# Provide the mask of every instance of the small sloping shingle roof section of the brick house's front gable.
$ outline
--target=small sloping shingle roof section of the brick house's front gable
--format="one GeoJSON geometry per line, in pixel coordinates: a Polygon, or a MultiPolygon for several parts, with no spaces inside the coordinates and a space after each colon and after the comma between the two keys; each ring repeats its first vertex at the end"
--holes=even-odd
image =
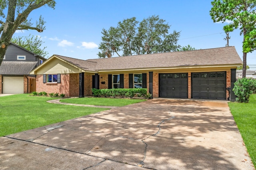
{"type": "Polygon", "coordinates": [[[80,60],[80,59],[74,59],[74,58],[70,58],[70,57],[64,57],[61,55],[55,55],[65,61],[68,61],[71,64],[74,64],[80,68],[82,68],[83,70],[90,70],[90,71],[95,71],[95,67],[96,67],[96,62],[94,61],[86,61],[86,60],[80,60]]]}

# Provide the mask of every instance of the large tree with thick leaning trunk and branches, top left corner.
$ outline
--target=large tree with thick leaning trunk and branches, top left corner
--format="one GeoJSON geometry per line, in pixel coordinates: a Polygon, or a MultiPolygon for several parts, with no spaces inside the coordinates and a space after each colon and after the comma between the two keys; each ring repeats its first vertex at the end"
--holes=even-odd
{"type": "Polygon", "coordinates": [[[33,26],[28,15],[42,6],[55,7],[55,0],[0,0],[0,65],[12,35],[18,29],[34,29],[42,32],[45,27],[42,16],[33,26]]]}

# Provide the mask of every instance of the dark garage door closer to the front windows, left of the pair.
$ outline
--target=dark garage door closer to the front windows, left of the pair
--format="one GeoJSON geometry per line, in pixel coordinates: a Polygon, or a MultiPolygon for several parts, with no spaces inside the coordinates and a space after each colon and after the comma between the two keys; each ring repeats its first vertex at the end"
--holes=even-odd
{"type": "Polygon", "coordinates": [[[188,73],[160,74],[159,79],[160,97],[188,98],[188,73]]]}

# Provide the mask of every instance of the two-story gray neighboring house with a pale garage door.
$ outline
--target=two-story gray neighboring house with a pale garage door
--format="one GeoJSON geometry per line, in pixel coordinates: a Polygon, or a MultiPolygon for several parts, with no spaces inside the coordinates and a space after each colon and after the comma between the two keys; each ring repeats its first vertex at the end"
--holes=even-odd
{"type": "Polygon", "coordinates": [[[36,76],[29,72],[44,61],[44,57],[10,43],[0,66],[0,93],[36,91],[36,76]]]}

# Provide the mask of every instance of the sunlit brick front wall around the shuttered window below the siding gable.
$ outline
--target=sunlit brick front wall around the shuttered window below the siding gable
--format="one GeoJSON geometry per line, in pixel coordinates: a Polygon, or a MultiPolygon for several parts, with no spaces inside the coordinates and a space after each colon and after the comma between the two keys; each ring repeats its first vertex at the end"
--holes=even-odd
{"type": "Polygon", "coordinates": [[[61,74],[60,83],[43,83],[43,75],[36,75],[36,92],[47,92],[66,94],[66,97],[70,97],[69,94],[69,74],[61,74]]]}

